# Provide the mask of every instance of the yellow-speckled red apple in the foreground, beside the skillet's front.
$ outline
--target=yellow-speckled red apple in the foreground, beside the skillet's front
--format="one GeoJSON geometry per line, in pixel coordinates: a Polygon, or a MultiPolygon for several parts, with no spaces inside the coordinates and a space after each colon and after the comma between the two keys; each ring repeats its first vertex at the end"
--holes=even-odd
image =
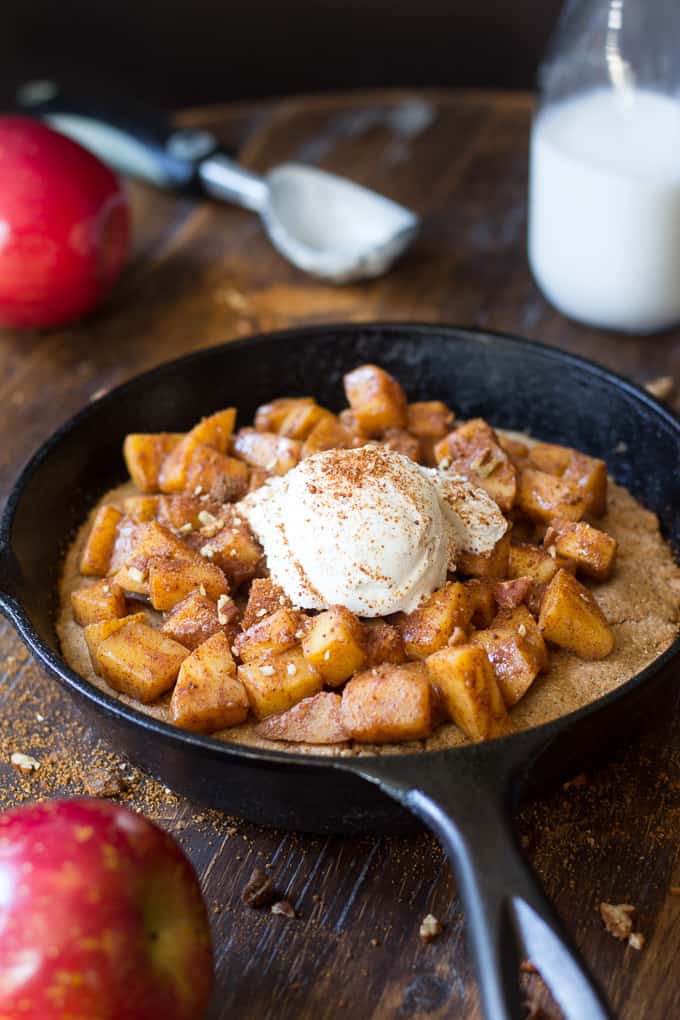
{"type": "Polygon", "coordinates": [[[0,1017],[199,1020],[212,980],[199,883],[167,833],[104,801],[0,815],[0,1017]]]}

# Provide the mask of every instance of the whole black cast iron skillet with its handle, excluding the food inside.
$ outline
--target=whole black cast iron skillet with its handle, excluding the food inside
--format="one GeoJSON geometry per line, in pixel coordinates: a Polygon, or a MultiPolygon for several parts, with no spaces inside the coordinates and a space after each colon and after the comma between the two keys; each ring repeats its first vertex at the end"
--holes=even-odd
{"type": "Polygon", "coordinates": [[[484,745],[328,760],[263,752],[176,729],[126,708],[63,661],[54,628],[64,544],[123,479],[128,431],[180,430],[228,404],[251,419],[277,395],[344,403],[343,373],[365,361],[412,400],[567,443],[610,465],[680,550],[680,421],[596,365],[538,344],[440,325],[322,325],[230,343],[161,365],[59,429],[16,482],[0,523],[0,607],[48,672],[120,751],[194,800],[269,825],[403,832],[413,815],[443,843],[461,886],[487,1020],[520,1020],[518,961],[529,957],[568,1020],[610,1016],[518,849],[520,789],[583,768],[676,666],[680,641],[623,687],[569,716],[484,745]],[[368,780],[368,781],[366,781],[368,780]]]}

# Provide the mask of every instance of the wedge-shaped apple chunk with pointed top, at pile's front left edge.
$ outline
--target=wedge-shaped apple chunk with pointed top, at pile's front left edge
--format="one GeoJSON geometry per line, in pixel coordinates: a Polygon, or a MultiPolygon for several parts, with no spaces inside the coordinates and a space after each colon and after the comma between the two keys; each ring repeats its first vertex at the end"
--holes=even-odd
{"type": "Polygon", "coordinates": [[[213,733],[238,726],[248,716],[246,688],[223,633],[204,642],[179,667],[170,699],[170,717],[177,726],[213,733]]]}

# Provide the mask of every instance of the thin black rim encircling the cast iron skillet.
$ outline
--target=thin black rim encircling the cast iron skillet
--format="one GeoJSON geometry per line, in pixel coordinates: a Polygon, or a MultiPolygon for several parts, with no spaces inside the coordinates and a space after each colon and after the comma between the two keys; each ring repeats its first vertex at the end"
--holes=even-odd
{"type": "MultiPolygon", "coordinates": [[[[455,340],[457,337],[464,336],[481,344],[507,344],[515,348],[524,348],[530,352],[532,357],[543,358],[548,362],[557,362],[558,364],[564,364],[565,362],[569,363],[578,370],[599,378],[606,385],[612,386],[614,389],[624,391],[629,397],[632,397],[634,401],[641,404],[647,414],[651,414],[658,419],[661,419],[667,428],[670,428],[672,432],[676,434],[678,442],[680,443],[680,416],[677,415],[672,408],[658,400],[642,387],[619,374],[618,372],[591,361],[588,358],[583,358],[570,351],[564,351],[560,348],[551,347],[546,344],[542,344],[540,341],[529,340],[526,337],[520,337],[513,333],[485,329],[478,326],[458,326],[446,322],[411,322],[408,320],[323,322],[302,327],[289,327],[285,329],[271,330],[257,334],[252,337],[241,338],[239,340],[225,341],[221,344],[214,344],[199,351],[193,351],[190,354],[173,358],[169,361],[161,361],[154,367],[147,369],[144,372],[140,372],[132,378],[126,379],[124,382],[121,382],[119,386],[114,387],[112,390],[109,390],[108,393],[104,394],[101,398],[99,398],[99,400],[89,402],[85,407],[81,408],[80,411],[76,411],[75,414],[71,415],[64,422],[62,422],[62,424],[59,425],[50,436],[48,436],[48,438],[29,458],[10,490],[0,517],[0,565],[2,564],[3,558],[11,555],[12,525],[16,516],[18,503],[21,500],[27,484],[30,482],[31,478],[43,462],[49,458],[52,451],[59,446],[62,439],[79,427],[84,421],[87,421],[91,415],[95,414],[97,410],[102,407],[102,405],[111,403],[115,404],[115,401],[126,390],[137,387],[140,384],[150,382],[155,375],[167,372],[168,370],[176,371],[184,365],[214,356],[216,351],[240,350],[247,345],[252,346],[264,344],[271,342],[272,340],[284,342],[286,339],[293,337],[300,338],[302,336],[313,339],[316,336],[326,335],[330,330],[336,335],[343,333],[356,335],[357,333],[362,332],[378,332],[382,334],[398,332],[403,334],[405,330],[410,330],[416,335],[420,334],[424,337],[436,334],[439,337],[443,336],[447,340],[455,340]]],[[[4,609],[8,618],[16,627],[22,641],[27,644],[31,652],[36,655],[38,661],[47,668],[47,671],[56,676],[70,692],[75,693],[86,701],[90,702],[94,708],[102,712],[104,715],[115,716],[119,722],[129,724],[132,726],[141,726],[142,729],[146,729],[147,732],[152,733],[154,736],[158,736],[172,743],[177,741],[180,744],[192,748],[194,751],[207,751],[213,756],[218,755],[227,761],[230,758],[240,758],[252,764],[287,765],[293,768],[309,768],[309,766],[315,766],[317,768],[339,768],[347,771],[361,772],[362,764],[365,768],[367,762],[375,763],[391,758],[396,758],[403,762],[416,761],[423,757],[425,757],[427,761],[442,760],[444,758],[453,760],[454,756],[459,758],[460,756],[465,756],[467,754],[468,757],[471,757],[472,754],[479,754],[480,751],[490,753],[498,751],[499,755],[503,755],[505,750],[510,749],[511,747],[519,749],[522,744],[526,746],[527,751],[529,751],[529,749],[542,749],[561,732],[577,725],[580,721],[588,717],[599,715],[600,713],[606,712],[613,705],[622,704],[629,698],[633,698],[640,687],[657,676],[671,660],[680,657],[679,631],[675,641],[666,649],[665,652],[662,653],[662,655],[653,659],[648,666],[645,666],[645,668],[640,672],[633,674],[633,676],[622,683],[619,687],[611,691],[603,698],[589,702],[587,705],[576,709],[574,712],[559,716],[557,719],[542,723],[539,726],[519,730],[516,733],[495,738],[481,745],[464,744],[459,747],[436,751],[414,751],[407,753],[395,752],[393,754],[387,753],[380,755],[323,756],[317,754],[300,754],[290,751],[273,751],[243,744],[233,744],[228,741],[217,740],[216,737],[209,736],[207,734],[185,730],[178,726],[173,726],[170,723],[163,722],[160,719],[147,715],[132,706],[125,705],[123,702],[113,697],[113,695],[109,695],[106,692],[101,691],[95,684],[86,680],[85,677],[82,677],[79,673],[76,673],[75,670],[68,665],[65,659],[63,659],[60,655],[57,655],[54,650],[46,642],[44,642],[42,638],[40,638],[29,618],[20,596],[13,594],[11,591],[2,590],[1,583],[0,608],[4,609]]]]}

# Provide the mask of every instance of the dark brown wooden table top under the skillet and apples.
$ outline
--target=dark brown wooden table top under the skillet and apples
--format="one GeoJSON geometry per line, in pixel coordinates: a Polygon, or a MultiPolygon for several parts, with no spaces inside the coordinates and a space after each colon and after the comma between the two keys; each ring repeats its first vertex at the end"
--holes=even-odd
{"type": "MultiPolygon", "coordinates": [[[[422,236],[385,278],[332,289],[304,277],[257,219],[216,204],[132,187],[135,258],[89,321],[0,342],[0,487],[49,432],[96,392],[187,351],[278,326],[332,319],[483,325],[537,338],[645,380],[680,378],[680,333],[632,340],[577,326],[543,301],[525,255],[531,99],[481,93],[355,94],[185,113],[264,169],[294,158],[347,173],[415,208],[422,236]]],[[[323,366],[318,366],[322,371],[323,366]]],[[[5,803],[83,793],[88,763],[110,749],[79,724],[69,699],[2,624],[3,747],[42,761],[31,779],[0,764],[5,803]]],[[[677,698],[675,699],[677,701],[677,698]]],[[[522,809],[527,853],[585,958],[626,1020],[680,1015],[680,716],[674,699],[642,720],[585,784],[522,809]],[[615,941],[600,900],[637,907],[646,937],[615,941]]],[[[224,819],[145,777],[126,795],[182,840],[213,911],[213,1018],[479,1016],[455,884],[436,844],[312,838],[224,819]],[[240,894],[271,864],[292,921],[240,894]],[[430,946],[428,912],[446,924],[430,946]]],[[[528,994],[548,1003],[536,977],[528,994]]],[[[547,1006],[550,1015],[555,1008],[547,1006]]],[[[587,1020],[587,1018],[584,1018],[587,1020]]]]}

